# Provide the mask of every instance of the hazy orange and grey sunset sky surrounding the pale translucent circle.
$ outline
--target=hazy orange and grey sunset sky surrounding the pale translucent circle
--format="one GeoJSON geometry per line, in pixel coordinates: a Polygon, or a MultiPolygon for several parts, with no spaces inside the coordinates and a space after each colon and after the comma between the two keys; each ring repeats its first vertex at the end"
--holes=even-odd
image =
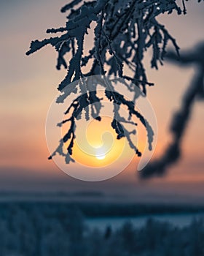
{"type": "MultiPolygon", "coordinates": [[[[136,157],[118,176],[96,183],[77,181],[47,160],[50,154],[45,137],[47,111],[66,70],[55,69],[56,53],[50,47],[32,56],[25,53],[31,40],[46,37],[47,28],[63,26],[66,15],[60,13],[60,7],[66,3],[66,0],[0,1],[0,191],[87,189],[129,193],[140,200],[167,195],[171,200],[180,196],[181,200],[188,197],[201,202],[204,199],[204,102],[195,103],[182,143],[182,159],[170,167],[164,178],[139,181],[136,157]]],[[[193,49],[204,39],[203,13],[203,2],[189,1],[187,15],[163,15],[160,20],[176,37],[181,50],[193,49]]],[[[195,67],[175,67],[166,62],[158,71],[150,68],[146,71],[149,80],[155,83],[148,90],[158,126],[154,159],[170,141],[171,115],[178,108],[195,67]]]]}

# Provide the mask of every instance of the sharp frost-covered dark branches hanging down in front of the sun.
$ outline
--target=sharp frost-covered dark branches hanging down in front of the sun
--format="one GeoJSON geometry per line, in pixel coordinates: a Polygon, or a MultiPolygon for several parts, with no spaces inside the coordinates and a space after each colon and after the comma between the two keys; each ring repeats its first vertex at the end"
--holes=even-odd
{"type": "MultiPolygon", "coordinates": [[[[200,1],[198,0],[198,2],[200,1]]],[[[179,48],[176,40],[168,33],[165,26],[157,21],[158,15],[170,14],[173,10],[178,15],[182,12],[186,14],[185,1],[182,1],[181,7],[177,4],[178,2],[180,1],[98,0],[85,2],[74,0],[61,9],[61,12],[68,12],[66,26],[59,29],[47,29],[47,33],[61,33],[60,36],[31,42],[31,48],[26,53],[27,55],[50,44],[58,52],[57,69],[60,67],[68,69],[66,78],[58,86],[61,95],[57,102],[63,102],[69,94],[76,93],[77,89],[82,94],[76,97],[66,110],[66,114],[70,116],[59,124],[71,122],[70,128],[60,140],[58,148],[50,156],[50,159],[58,153],[65,157],[67,163],[74,162],[71,154],[75,138],[75,121],[77,118],[81,118],[82,110],[85,111],[87,120],[90,115],[98,121],[101,120],[102,99],[97,94],[98,84],[105,87],[106,99],[113,105],[117,105],[117,108],[114,108],[111,122],[111,126],[117,133],[117,139],[125,137],[125,123],[136,125],[131,121],[131,118],[136,116],[146,127],[151,150],[154,132],[144,116],[135,110],[138,98],[138,91],[135,88],[141,89],[143,94],[146,94],[146,86],[153,85],[146,77],[144,67],[144,52],[146,50],[152,48],[151,67],[156,69],[158,69],[158,63],[162,64],[169,41],[173,43],[178,54],[179,48]],[[88,29],[93,27],[93,45],[85,45],[85,37],[89,34],[88,29]],[[88,47],[90,49],[87,49],[88,47]],[[68,61],[66,61],[66,56],[70,57],[68,61]],[[89,72],[85,72],[87,65],[90,65],[89,72]],[[131,75],[125,73],[127,70],[125,67],[129,69],[128,74],[131,73],[131,75]],[[103,81],[95,81],[93,85],[89,78],[93,75],[103,75],[103,81]],[[119,94],[116,91],[116,81],[106,80],[106,75],[118,76],[125,80],[124,86],[127,86],[130,91],[135,91],[133,101],[129,101],[119,94]],[[76,80],[80,80],[79,88],[74,88],[72,91],[66,90],[68,85],[76,80]],[[130,116],[128,120],[119,116],[119,108],[122,105],[127,107],[130,116]],[[67,151],[64,152],[63,146],[66,142],[69,144],[67,151]]],[[[130,139],[128,142],[136,154],[141,156],[135,143],[130,139]]]]}

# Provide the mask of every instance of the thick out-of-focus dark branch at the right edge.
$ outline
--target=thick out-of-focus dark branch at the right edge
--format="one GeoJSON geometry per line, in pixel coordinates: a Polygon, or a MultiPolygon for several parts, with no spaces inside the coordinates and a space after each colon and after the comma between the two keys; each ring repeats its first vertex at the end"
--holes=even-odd
{"type": "Polygon", "coordinates": [[[204,42],[196,45],[196,50],[181,53],[180,57],[172,51],[166,54],[168,61],[173,61],[181,66],[195,65],[196,73],[189,88],[184,92],[180,109],[174,114],[170,124],[170,132],[173,140],[166,148],[160,159],[150,162],[141,172],[141,177],[147,178],[154,175],[162,175],[169,165],[176,162],[181,155],[181,140],[184,137],[185,129],[192,113],[196,99],[204,99],[204,42]]]}

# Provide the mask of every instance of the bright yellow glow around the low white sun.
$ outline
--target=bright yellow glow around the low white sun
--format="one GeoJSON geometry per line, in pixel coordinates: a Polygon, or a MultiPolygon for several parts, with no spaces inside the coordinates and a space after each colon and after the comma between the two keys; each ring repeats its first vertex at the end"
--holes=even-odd
{"type": "MultiPolygon", "coordinates": [[[[80,127],[76,129],[80,129],[80,127]]],[[[86,138],[78,143],[76,135],[72,154],[76,162],[82,165],[90,167],[109,165],[117,160],[125,148],[125,138],[117,140],[117,134],[111,127],[111,117],[109,116],[102,116],[101,121],[93,119],[84,132],[86,138]]]]}

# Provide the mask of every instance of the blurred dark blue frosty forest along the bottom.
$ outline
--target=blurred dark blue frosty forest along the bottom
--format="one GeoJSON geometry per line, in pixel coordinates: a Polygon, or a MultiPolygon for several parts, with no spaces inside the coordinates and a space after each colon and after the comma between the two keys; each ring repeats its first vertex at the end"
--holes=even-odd
{"type": "Polygon", "coordinates": [[[147,219],[105,231],[85,225],[82,212],[66,204],[1,203],[1,256],[204,255],[204,222],[187,227],[147,219]]]}

